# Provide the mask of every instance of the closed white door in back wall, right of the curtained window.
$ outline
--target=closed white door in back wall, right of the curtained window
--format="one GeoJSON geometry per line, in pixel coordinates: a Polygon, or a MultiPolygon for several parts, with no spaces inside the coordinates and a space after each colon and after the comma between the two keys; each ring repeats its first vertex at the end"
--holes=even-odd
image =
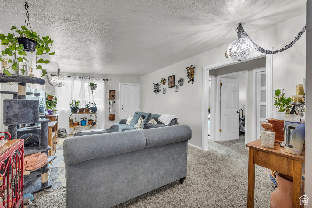
{"type": "Polygon", "coordinates": [[[140,110],[140,86],[120,84],[120,119],[128,119],[140,110]]]}

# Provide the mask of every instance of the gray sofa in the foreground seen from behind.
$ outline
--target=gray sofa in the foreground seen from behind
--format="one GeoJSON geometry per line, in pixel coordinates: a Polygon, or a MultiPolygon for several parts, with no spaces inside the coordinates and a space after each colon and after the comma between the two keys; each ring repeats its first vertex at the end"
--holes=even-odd
{"type": "Polygon", "coordinates": [[[82,135],[64,141],[67,208],[106,208],[187,175],[185,125],[82,135]]]}

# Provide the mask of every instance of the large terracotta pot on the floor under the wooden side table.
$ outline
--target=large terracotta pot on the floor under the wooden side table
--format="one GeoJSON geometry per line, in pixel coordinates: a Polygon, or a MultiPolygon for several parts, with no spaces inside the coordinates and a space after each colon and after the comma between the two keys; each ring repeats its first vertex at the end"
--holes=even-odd
{"type": "MultiPolygon", "coordinates": [[[[293,177],[276,172],[276,181],[277,188],[271,193],[271,208],[291,208],[293,177]]],[[[300,196],[304,194],[304,190],[305,181],[302,180],[300,196]]]]}

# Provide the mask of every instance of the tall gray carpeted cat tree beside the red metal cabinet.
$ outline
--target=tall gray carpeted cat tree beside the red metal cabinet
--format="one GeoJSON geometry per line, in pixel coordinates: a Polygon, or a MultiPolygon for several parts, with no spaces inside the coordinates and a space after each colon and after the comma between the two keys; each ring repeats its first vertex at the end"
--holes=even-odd
{"type": "MultiPolygon", "coordinates": [[[[48,145],[48,122],[49,119],[39,119],[39,100],[26,100],[26,83],[44,85],[45,80],[37,77],[27,77],[22,75],[8,76],[0,74],[0,83],[17,82],[18,92],[0,91],[1,94],[13,94],[13,99],[3,100],[3,124],[8,127],[7,131],[11,134],[11,139],[22,139],[23,135],[37,135],[38,143],[25,146],[24,155],[43,152],[48,155],[51,149],[48,145]],[[40,123],[40,129],[36,127],[20,128],[21,124],[40,123]]],[[[26,139],[28,137],[24,137],[26,139]]],[[[30,140],[31,141],[31,140],[30,140]]],[[[36,141],[36,139],[35,139],[36,141]]],[[[25,193],[37,193],[52,185],[48,180],[48,164],[56,156],[48,156],[45,166],[33,170],[24,177],[25,193]],[[40,177],[41,176],[41,180],[40,177]]],[[[25,169],[26,167],[24,167],[25,169]]]]}

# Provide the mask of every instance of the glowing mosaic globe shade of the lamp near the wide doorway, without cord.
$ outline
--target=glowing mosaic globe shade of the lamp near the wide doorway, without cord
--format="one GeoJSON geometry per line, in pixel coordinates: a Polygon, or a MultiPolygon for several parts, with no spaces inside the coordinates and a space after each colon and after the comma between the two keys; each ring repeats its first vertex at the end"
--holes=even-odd
{"type": "Polygon", "coordinates": [[[227,48],[227,57],[232,61],[241,61],[245,60],[251,52],[251,41],[247,38],[237,38],[227,48]]]}

